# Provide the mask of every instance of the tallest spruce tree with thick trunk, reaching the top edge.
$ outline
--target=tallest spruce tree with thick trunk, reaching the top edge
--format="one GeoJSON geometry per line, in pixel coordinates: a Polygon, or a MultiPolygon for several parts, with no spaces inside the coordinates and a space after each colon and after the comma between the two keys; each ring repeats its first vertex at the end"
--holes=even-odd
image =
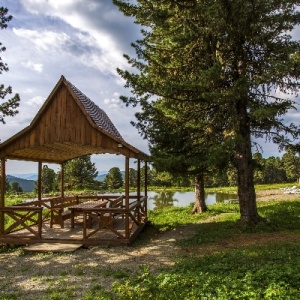
{"type": "MultiPolygon", "coordinates": [[[[300,22],[298,2],[113,2],[135,18],[143,35],[132,44],[137,58],[125,55],[135,70],[118,70],[133,93],[123,101],[141,105],[150,117],[157,97],[172,101],[178,117],[182,107],[195,103],[191,122],[205,117],[208,138],[215,140],[220,132],[211,128],[218,128],[233,145],[241,221],[259,222],[252,137],[283,147],[299,134],[282,119],[299,89],[300,45],[290,36],[300,22]]],[[[147,120],[138,124],[145,128],[147,120]]]]}

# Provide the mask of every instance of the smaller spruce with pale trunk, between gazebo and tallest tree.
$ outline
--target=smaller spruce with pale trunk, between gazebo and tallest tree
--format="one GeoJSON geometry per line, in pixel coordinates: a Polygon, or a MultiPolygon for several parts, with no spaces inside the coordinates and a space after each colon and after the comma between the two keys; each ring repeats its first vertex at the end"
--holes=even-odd
{"type": "Polygon", "coordinates": [[[185,103],[180,111],[173,101],[159,99],[150,107],[136,114],[136,127],[150,144],[153,166],[157,171],[168,171],[177,177],[194,179],[195,203],[192,213],[207,210],[204,194],[205,177],[216,166],[225,167],[230,153],[230,144],[220,134],[222,130],[207,121],[207,115],[198,111],[197,103],[185,103]],[[209,126],[208,126],[209,125],[209,126]],[[207,132],[215,132],[212,137],[207,132]],[[218,134],[219,133],[219,134],[218,134]],[[220,155],[222,154],[222,155],[220,155]]]}

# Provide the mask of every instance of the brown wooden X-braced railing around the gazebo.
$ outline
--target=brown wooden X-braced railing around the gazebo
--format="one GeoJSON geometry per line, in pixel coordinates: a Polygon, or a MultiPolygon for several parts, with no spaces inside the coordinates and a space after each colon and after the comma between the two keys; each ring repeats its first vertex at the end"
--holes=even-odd
{"type": "MultiPolygon", "coordinates": [[[[68,198],[68,196],[65,198],[68,198]]],[[[110,203],[117,202],[119,198],[124,198],[124,196],[78,195],[79,202],[107,200],[110,203]]],[[[51,202],[61,199],[61,197],[52,197],[0,208],[0,217],[5,220],[6,224],[4,228],[0,229],[0,237],[4,238],[10,234],[10,238],[16,240],[19,237],[42,239],[42,224],[51,218],[51,202]]],[[[87,208],[83,210],[83,240],[96,239],[96,233],[102,229],[114,233],[118,238],[129,239],[134,226],[139,227],[146,220],[147,197],[144,196],[139,199],[137,196],[130,196],[127,207],[123,203],[120,207],[87,208]],[[123,221],[118,222],[118,225],[122,223],[122,227],[116,226],[116,219],[123,221]],[[97,222],[96,229],[89,226],[90,222],[97,222]]]]}

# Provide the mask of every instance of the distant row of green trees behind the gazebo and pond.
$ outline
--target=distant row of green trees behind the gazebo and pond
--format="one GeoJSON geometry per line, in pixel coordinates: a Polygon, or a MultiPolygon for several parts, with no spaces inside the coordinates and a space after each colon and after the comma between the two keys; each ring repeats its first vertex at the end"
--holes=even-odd
{"type": "MultiPolygon", "coordinates": [[[[261,153],[253,155],[255,170],[255,184],[273,183],[295,183],[300,177],[300,158],[296,151],[288,149],[282,157],[263,158],[261,153]]],[[[91,162],[90,156],[74,159],[65,165],[65,190],[99,190],[114,191],[124,187],[124,177],[118,167],[109,170],[103,181],[96,180],[98,171],[95,164],[91,162]]],[[[168,172],[157,172],[155,168],[148,167],[148,186],[157,187],[193,187],[193,178],[181,174],[174,176],[168,172]]],[[[137,185],[137,170],[129,169],[130,187],[137,185]]],[[[60,171],[54,170],[44,165],[42,171],[42,191],[43,193],[57,192],[60,190],[60,171]]],[[[141,182],[145,182],[145,170],[141,168],[141,182]]],[[[206,187],[236,186],[237,174],[234,167],[227,167],[220,170],[212,170],[206,178],[206,187]]],[[[9,193],[22,192],[18,183],[10,183],[7,180],[6,190],[9,193]]]]}

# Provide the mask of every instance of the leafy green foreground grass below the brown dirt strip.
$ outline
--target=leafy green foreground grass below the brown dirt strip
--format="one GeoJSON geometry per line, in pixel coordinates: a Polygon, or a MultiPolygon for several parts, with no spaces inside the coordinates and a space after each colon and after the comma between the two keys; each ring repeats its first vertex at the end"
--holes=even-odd
{"type": "Polygon", "coordinates": [[[299,243],[191,256],[114,284],[115,299],[299,299],[299,243]]]}

